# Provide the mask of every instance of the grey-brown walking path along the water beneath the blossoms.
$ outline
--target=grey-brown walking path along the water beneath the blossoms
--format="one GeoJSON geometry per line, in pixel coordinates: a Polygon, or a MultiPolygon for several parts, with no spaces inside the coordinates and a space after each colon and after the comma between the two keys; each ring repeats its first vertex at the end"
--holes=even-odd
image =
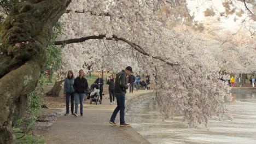
{"type": "MultiPolygon", "coordinates": [[[[141,94],[149,94],[141,90],[133,94],[126,94],[126,99],[141,94]]],[[[152,93],[150,93],[152,94],[152,93]]],[[[108,97],[108,95],[105,95],[108,97]]],[[[110,126],[109,119],[116,105],[109,105],[108,99],[103,99],[102,105],[89,104],[85,101],[84,116],[61,116],[48,131],[37,131],[46,143],[92,143],[92,144],[136,144],[149,143],[131,127],[123,128],[110,126]]],[[[78,112],[80,113],[80,112],[78,112]]],[[[119,115],[116,118],[119,124],[119,115]]]]}

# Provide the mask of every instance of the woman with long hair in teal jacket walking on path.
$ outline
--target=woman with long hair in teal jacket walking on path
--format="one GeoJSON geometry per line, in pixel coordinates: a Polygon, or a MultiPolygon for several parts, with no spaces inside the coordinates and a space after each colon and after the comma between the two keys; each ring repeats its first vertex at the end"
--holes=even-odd
{"type": "Polygon", "coordinates": [[[69,99],[71,98],[71,113],[74,114],[74,75],[71,70],[68,71],[67,77],[64,82],[64,97],[66,97],[66,114],[69,115],[69,99]]]}

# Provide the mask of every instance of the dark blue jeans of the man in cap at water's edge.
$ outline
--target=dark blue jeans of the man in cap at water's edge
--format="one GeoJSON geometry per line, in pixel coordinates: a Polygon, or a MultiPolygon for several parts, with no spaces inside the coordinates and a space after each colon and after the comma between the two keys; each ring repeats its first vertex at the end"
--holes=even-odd
{"type": "Polygon", "coordinates": [[[120,125],[125,123],[125,94],[115,94],[115,98],[117,98],[117,107],[115,108],[110,122],[115,122],[115,117],[117,117],[118,111],[120,110],[120,125]]]}

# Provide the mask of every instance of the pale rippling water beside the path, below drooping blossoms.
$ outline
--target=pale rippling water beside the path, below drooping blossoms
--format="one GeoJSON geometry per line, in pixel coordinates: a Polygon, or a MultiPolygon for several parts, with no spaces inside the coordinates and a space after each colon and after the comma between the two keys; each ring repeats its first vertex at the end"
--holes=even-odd
{"type": "Polygon", "coordinates": [[[127,113],[132,127],[150,143],[245,143],[256,144],[256,89],[232,89],[233,102],[228,104],[234,119],[211,119],[204,125],[188,128],[182,116],[163,120],[156,101],[133,106],[127,113]]]}

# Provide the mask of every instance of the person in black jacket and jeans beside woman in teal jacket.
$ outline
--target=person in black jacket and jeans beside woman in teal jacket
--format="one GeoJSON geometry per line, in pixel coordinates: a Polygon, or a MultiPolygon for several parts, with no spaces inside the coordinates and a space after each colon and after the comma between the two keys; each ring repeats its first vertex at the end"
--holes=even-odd
{"type": "Polygon", "coordinates": [[[74,116],[77,116],[78,111],[78,102],[80,101],[80,116],[83,116],[83,108],[84,108],[84,97],[85,91],[88,89],[88,82],[84,77],[84,71],[79,70],[79,76],[74,80],[74,97],[75,97],[75,113],[74,116]]]}

